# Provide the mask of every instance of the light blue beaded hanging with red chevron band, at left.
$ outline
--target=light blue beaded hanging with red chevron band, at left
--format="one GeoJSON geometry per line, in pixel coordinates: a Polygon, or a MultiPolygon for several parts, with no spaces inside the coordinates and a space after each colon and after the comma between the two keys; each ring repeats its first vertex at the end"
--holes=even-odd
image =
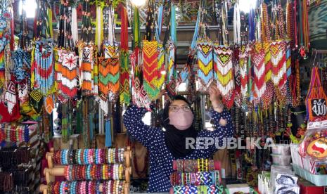
{"type": "Polygon", "coordinates": [[[36,41],[32,51],[32,88],[40,89],[47,95],[53,92],[54,67],[53,67],[53,41],[36,41]]]}

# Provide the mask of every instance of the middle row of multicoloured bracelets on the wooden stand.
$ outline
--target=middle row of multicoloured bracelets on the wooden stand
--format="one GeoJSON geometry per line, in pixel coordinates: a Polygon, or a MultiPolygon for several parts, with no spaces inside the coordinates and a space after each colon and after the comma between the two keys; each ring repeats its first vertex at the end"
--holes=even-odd
{"type": "Polygon", "coordinates": [[[68,181],[84,180],[124,180],[123,164],[89,164],[65,166],[65,178],[68,181]]]}

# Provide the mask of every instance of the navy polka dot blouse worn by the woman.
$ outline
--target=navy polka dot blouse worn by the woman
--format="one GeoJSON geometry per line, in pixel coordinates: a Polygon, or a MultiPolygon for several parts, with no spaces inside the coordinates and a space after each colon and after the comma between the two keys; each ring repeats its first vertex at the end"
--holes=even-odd
{"type": "MultiPolygon", "coordinates": [[[[142,117],[146,112],[147,110],[144,108],[137,108],[135,105],[131,105],[124,114],[123,122],[129,135],[136,138],[149,151],[150,178],[148,192],[169,192],[169,189],[172,187],[169,180],[169,176],[173,172],[172,161],[177,158],[172,156],[167,145],[165,145],[165,131],[162,131],[159,127],[150,127],[142,122],[142,117]]],[[[227,110],[224,110],[222,113],[212,110],[211,113],[214,131],[204,129],[198,133],[198,137],[219,138],[219,145],[222,145],[223,138],[233,136],[231,115],[227,110]],[[226,119],[227,124],[225,126],[219,125],[220,118],[226,119]]],[[[184,159],[208,158],[216,151],[216,146],[210,145],[207,149],[194,150],[184,159]]]]}

